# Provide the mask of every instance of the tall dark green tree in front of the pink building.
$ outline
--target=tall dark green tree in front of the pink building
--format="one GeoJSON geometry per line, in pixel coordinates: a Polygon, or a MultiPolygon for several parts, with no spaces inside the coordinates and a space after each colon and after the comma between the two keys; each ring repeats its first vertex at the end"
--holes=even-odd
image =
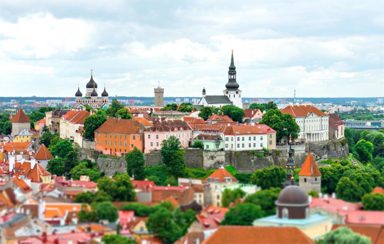
{"type": "Polygon", "coordinates": [[[172,172],[172,175],[180,177],[186,174],[187,165],[184,158],[183,146],[178,138],[170,136],[163,140],[160,153],[163,163],[172,172]]]}

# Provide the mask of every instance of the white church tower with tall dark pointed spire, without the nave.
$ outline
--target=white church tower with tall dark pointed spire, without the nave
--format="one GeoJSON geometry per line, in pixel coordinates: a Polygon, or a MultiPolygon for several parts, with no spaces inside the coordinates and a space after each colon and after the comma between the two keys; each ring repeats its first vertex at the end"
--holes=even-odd
{"type": "Polygon", "coordinates": [[[229,98],[232,104],[236,107],[243,108],[241,91],[239,90],[239,84],[236,82],[236,67],[233,62],[233,50],[231,57],[231,64],[228,70],[228,82],[225,84],[224,95],[229,98]]]}

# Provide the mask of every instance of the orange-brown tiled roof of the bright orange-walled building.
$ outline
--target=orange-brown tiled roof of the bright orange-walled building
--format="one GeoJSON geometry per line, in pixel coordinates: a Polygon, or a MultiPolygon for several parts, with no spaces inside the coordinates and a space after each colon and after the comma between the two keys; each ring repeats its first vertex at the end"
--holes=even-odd
{"type": "Polygon", "coordinates": [[[108,119],[95,131],[101,133],[139,134],[140,123],[133,120],[108,119]]]}

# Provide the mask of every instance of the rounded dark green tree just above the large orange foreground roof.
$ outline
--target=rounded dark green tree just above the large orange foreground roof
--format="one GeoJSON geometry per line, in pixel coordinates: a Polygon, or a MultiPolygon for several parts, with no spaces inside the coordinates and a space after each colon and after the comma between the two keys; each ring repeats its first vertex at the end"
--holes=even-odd
{"type": "Polygon", "coordinates": [[[220,225],[251,226],[254,220],[262,218],[265,215],[259,205],[252,203],[238,204],[236,207],[229,209],[229,212],[225,214],[224,220],[220,225]]]}

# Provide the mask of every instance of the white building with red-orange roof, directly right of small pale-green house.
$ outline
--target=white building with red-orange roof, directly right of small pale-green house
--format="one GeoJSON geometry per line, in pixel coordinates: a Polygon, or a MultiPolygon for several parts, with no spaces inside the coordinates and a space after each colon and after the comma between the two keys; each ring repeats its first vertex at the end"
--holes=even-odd
{"type": "Polygon", "coordinates": [[[224,130],[224,150],[262,150],[268,147],[268,135],[257,126],[226,126],[224,130]]]}

